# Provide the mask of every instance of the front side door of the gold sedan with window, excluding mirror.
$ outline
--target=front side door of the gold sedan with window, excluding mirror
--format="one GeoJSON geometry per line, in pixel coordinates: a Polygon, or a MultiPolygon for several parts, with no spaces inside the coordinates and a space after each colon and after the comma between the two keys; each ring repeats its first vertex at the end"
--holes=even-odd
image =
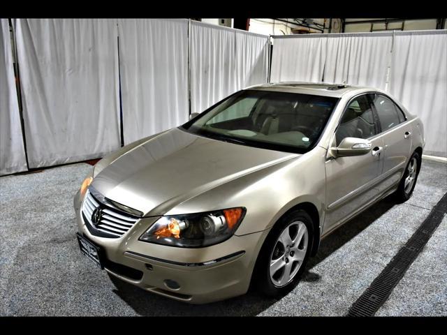
{"type": "Polygon", "coordinates": [[[326,160],[326,216],[323,234],[344,223],[377,195],[376,181],[383,168],[383,138],[366,94],[348,103],[335,131],[334,145],[345,137],[360,137],[372,142],[373,150],[362,156],[326,160]]]}

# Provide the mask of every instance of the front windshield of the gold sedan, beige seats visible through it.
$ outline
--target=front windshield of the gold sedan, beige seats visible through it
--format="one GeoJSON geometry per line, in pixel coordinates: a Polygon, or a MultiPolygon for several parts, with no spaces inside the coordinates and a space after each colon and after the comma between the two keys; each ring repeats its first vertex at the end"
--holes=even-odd
{"type": "Polygon", "coordinates": [[[337,98],[240,91],[182,127],[217,140],[304,153],[314,147],[337,98]]]}

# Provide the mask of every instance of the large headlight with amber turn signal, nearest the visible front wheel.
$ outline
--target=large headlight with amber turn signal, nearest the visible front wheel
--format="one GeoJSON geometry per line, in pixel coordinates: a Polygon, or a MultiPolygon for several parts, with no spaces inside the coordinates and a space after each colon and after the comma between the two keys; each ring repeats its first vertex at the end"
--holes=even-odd
{"type": "Polygon", "coordinates": [[[182,248],[212,246],[230,238],[244,218],[243,207],[208,213],[162,216],[140,241],[182,248]]]}

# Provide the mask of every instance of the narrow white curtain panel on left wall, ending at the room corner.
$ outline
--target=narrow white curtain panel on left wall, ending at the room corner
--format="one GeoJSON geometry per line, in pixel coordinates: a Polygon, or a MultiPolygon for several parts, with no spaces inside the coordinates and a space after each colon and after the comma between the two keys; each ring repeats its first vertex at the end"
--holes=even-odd
{"type": "Polygon", "coordinates": [[[235,31],[236,90],[263,84],[268,78],[268,36],[235,31]]]}

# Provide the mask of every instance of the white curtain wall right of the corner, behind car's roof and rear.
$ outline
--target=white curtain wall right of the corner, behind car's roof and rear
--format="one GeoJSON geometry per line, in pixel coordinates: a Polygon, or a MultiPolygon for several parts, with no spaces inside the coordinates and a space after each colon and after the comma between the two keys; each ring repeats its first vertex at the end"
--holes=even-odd
{"type": "Polygon", "coordinates": [[[270,77],[388,91],[423,120],[425,154],[445,157],[446,68],[446,30],[274,36],[270,77]]]}

